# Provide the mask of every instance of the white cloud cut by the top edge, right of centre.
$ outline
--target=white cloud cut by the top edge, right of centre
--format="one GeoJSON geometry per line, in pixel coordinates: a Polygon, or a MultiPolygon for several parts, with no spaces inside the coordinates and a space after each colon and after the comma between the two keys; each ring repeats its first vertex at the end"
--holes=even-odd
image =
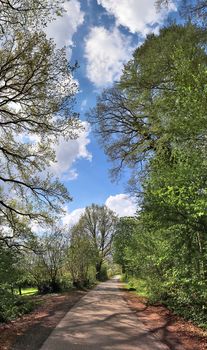
{"type": "MultiPolygon", "coordinates": [[[[151,26],[155,26],[154,30],[157,31],[156,27],[167,14],[167,10],[156,11],[154,0],[97,0],[97,2],[115,17],[117,25],[128,28],[131,33],[141,33],[143,36],[152,32],[151,26]]],[[[169,10],[175,9],[175,5],[171,4],[169,10]]]]}

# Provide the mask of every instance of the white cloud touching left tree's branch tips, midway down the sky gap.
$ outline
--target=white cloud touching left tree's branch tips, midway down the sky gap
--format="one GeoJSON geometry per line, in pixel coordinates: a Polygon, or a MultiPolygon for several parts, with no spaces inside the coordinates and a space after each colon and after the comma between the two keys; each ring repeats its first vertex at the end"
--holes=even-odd
{"type": "Polygon", "coordinates": [[[60,138],[59,143],[55,145],[56,163],[51,166],[51,171],[56,176],[65,180],[74,180],[78,173],[73,168],[74,162],[80,158],[88,161],[92,160],[92,154],[88,151],[87,145],[90,143],[89,133],[90,125],[82,122],[84,130],[80,131],[79,136],[75,140],[65,140],[60,138]]]}

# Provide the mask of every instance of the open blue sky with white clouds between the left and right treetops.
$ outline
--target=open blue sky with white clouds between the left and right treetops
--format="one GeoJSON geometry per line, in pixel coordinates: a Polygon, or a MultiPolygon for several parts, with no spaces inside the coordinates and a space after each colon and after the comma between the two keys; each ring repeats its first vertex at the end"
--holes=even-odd
{"type": "Polygon", "coordinates": [[[66,206],[66,224],[75,223],[91,203],[107,204],[118,215],[133,215],[134,200],[125,192],[127,175],[118,183],[109,177],[111,164],[95,139],[85,113],[95,105],[104,87],[118,80],[133,50],[146,35],[159,33],[169,12],[157,12],[154,0],[70,0],[65,2],[63,17],[50,23],[47,35],[58,48],[67,47],[69,61],[78,61],[75,72],[79,91],[75,110],[85,130],[77,140],[60,140],[53,172],[69,189],[73,201],[66,206]]]}

